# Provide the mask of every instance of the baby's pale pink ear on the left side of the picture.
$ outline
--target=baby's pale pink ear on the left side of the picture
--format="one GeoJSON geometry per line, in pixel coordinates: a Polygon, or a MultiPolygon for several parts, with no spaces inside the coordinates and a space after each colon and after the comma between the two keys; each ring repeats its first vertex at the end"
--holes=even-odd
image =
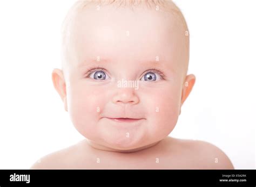
{"type": "Polygon", "coordinates": [[[63,71],[60,69],[53,69],[51,74],[53,86],[56,91],[59,93],[60,98],[64,102],[64,108],[68,111],[68,107],[66,104],[66,83],[63,75],[63,71]]]}

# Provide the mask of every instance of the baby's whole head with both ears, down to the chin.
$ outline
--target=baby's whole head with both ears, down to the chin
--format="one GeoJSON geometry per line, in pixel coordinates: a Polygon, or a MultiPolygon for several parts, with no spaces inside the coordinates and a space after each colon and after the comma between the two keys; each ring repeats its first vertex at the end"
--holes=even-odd
{"type": "Polygon", "coordinates": [[[53,84],[91,145],[125,152],[170,134],[195,82],[174,3],[78,1],[64,20],[62,49],[53,84]]]}

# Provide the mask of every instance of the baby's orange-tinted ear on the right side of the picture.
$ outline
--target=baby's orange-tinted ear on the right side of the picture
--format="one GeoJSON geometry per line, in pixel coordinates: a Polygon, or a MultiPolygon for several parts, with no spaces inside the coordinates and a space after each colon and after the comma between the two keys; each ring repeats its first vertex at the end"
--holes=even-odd
{"type": "MultiPolygon", "coordinates": [[[[183,103],[185,102],[188,95],[190,95],[190,92],[191,92],[195,82],[196,82],[196,76],[194,76],[193,74],[186,76],[185,81],[183,83],[183,88],[182,88],[181,105],[183,105],[183,103]]],[[[180,105],[180,107],[181,107],[181,105],[180,105]]],[[[181,113],[181,111],[180,111],[180,113],[181,113]]]]}

